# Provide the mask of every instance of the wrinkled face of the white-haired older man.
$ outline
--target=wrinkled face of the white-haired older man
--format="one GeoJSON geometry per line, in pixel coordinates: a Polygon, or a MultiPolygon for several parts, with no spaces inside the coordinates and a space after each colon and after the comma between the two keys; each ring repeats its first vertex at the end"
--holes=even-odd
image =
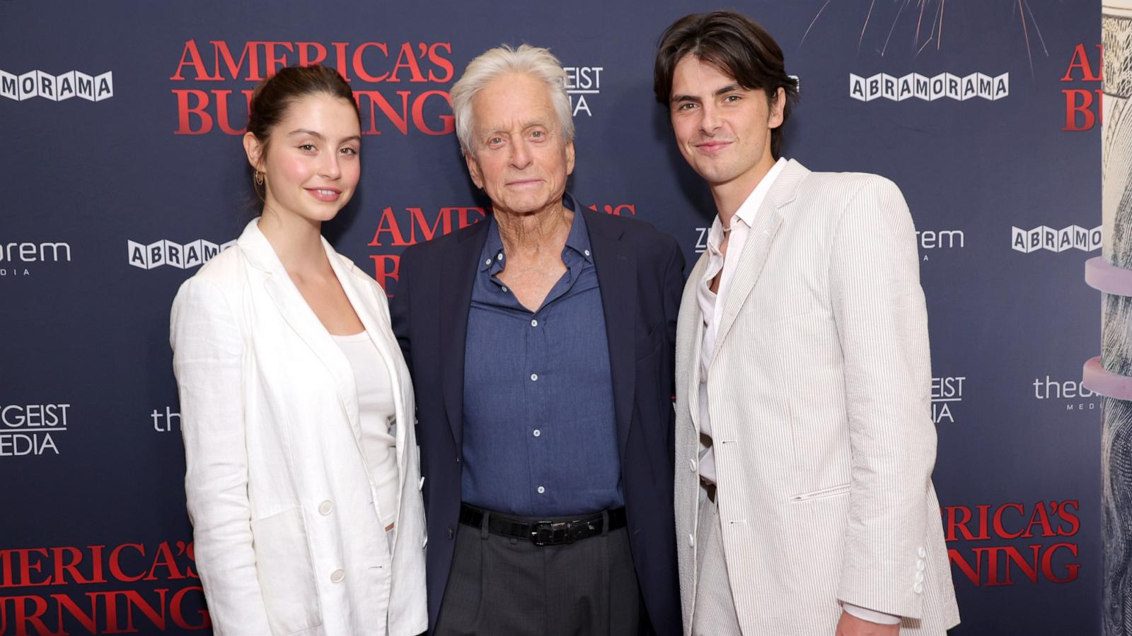
{"type": "Polygon", "coordinates": [[[560,205],[574,171],[574,143],[561,137],[546,85],[504,75],[472,98],[472,181],[496,212],[530,214],[560,205]]]}

